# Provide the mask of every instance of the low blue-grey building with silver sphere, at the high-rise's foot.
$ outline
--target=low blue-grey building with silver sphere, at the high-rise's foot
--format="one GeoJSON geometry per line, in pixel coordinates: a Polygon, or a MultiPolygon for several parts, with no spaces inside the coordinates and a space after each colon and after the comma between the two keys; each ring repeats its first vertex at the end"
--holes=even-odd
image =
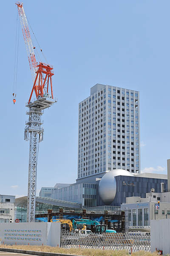
{"type": "Polygon", "coordinates": [[[82,208],[96,206],[121,206],[127,197],[146,197],[152,188],[161,193],[161,184],[167,189],[167,175],[136,174],[117,169],[107,172],[95,183],[74,183],[68,187],[54,190],[51,198],[77,202],[82,208]],[[123,171],[125,173],[123,173],[123,171]],[[104,180],[104,182],[103,182],[104,180]]]}

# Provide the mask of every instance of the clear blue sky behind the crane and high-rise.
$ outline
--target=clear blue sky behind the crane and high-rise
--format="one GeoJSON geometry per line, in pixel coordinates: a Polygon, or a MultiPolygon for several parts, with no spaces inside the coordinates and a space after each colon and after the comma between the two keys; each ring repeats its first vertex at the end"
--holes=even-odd
{"type": "MultiPolygon", "coordinates": [[[[45,110],[37,192],[77,178],[78,103],[96,83],[140,92],[141,169],[166,173],[170,158],[170,1],[25,0],[50,64],[54,96],[45,110]]],[[[32,81],[20,31],[17,102],[12,102],[17,6],[1,8],[0,194],[27,195],[25,103],[32,81]]]]}

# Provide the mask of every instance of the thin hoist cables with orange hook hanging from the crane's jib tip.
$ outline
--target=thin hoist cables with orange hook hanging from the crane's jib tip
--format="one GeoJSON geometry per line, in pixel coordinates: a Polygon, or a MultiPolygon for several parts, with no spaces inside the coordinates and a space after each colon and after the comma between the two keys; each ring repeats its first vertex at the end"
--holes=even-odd
{"type": "Polygon", "coordinates": [[[17,12],[17,27],[16,27],[16,36],[15,36],[15,58],[14,58],[14,81],[13,81],[13,93],[12,93],[14,104],[16,102],[16,96],[17,96],[19,29],[20,29],[20,21],[18,19],[18,12],[17,12]]]}

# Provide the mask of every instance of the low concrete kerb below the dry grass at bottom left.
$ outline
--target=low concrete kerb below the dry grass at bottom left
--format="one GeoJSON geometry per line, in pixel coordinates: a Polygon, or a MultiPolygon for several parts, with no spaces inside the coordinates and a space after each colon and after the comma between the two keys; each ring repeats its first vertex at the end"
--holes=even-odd
{"type": "Polygon", "coordinates": [[[39,252],[39,251],[30,251],[30,250],[19,250],[19,249],[11,249],[11,248],[0,248],[2,252],[8,253],[23,253],[30,255],[38,255],[38,256],[80,256],[80,255],[71,255],[65,253],[47,253],[47,252],[39,252]]]}

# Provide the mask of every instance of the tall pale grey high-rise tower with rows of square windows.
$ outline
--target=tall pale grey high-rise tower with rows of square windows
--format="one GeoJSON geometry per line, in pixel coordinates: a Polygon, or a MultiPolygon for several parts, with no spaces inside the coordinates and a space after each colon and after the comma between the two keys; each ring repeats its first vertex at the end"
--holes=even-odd
{"type": "Polygon", "coordinates": [[[79,103],[78,180],[112,169],[140,173],[139,92],[96,84],[79,103]]]}

